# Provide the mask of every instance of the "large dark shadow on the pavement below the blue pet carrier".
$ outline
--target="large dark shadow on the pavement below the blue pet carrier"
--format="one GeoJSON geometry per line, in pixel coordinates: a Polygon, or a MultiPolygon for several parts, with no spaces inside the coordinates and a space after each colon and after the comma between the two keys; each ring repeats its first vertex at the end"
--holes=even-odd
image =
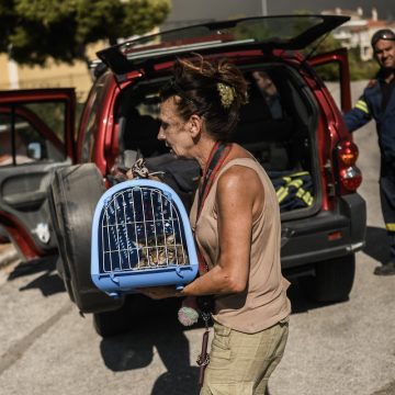
{"type": "Polygon", "coordinates": [[[139,302],[144,303],[144,309],[132,316],[131,331],[102,340],[104,364],[115,372],[147,368],[157,351],[167,372],[157,379],[151,395],[198,395],[199,368],[190,363],[184,334],[188,328],[177,319],[180,301],[140,298],[139,302]]]}

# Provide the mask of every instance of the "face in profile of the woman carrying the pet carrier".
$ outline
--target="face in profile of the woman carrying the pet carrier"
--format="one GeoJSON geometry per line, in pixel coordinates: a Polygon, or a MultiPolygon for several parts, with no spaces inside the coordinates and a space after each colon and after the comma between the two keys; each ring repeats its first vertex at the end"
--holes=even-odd
{"type": "Polygon", "coordinates": [[[161,103],[160,121],[158,139],[178,157],[191,158],[190,150],[194,146],[191,124],[178,114],[174,97],[161,103]]]}

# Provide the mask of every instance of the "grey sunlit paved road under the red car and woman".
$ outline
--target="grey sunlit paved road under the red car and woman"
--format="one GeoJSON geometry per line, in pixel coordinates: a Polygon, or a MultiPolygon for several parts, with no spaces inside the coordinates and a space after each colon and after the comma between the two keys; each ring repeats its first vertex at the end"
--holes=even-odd
{"type": "MultiPolygon", "coordinates": [[[[360,190],[368,201],[366,248],[357,256],[350,301],[316,305],[297,283],[285,357],[271,395],[394,395],[395,278],[372,274],[385,256],[373,125],[360,131],[360,190]]],[[[159,303],[135,329],[103,340],[70,304],[53,261],[0,271],[0,394],[194,395],[202,328],[181,330],[159,303]]]]}

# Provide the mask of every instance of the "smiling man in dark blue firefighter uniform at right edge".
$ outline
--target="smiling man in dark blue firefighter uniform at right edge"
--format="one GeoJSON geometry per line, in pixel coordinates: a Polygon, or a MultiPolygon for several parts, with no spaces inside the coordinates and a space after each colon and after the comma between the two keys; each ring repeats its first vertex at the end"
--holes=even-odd
{"type": "Polygon", "coordinates": [[[370,81],[356,106],[345,114],[350,132],[370,120],[376,123],[381,153],[380,198],[388,235],[390,260],[374,274],[395,274],[395,33],[380,30],[372,36],[374,58],[380,70],[370,81]]]}

